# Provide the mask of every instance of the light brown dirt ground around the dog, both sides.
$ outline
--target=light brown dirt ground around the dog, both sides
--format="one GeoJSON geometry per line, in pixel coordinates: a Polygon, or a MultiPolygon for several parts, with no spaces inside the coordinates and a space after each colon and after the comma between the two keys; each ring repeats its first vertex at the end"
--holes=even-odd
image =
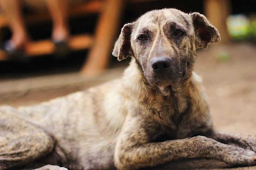
{"type": "MultiPolygon", "coordinates": [[[[49,100],[121,76],[122,70],[110,70],[94,79],[67,74],[0,80],[0,104],[18,106],[49,100]]],[[[198,52],[195,70],[203,78],[216,129],[229,133],[256,134],[256,45],[212,44],[208,50],[198,52]]],[[[195,159],[159,168],[253,170],[256,166],[228,168],[222,162],[195,159]]]]}

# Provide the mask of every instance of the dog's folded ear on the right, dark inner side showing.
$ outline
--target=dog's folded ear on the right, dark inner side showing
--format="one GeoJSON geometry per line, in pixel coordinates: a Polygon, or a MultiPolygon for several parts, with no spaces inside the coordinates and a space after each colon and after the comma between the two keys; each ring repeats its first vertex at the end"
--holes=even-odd
{"type": "Polygon", "coordinates": [[[220,41],[218,30],[208,22],[204,15],[198,12],[193,12],[189,15],[193,20],[195,29],[196,48],[207,49],[209,43],[220,41]]]}

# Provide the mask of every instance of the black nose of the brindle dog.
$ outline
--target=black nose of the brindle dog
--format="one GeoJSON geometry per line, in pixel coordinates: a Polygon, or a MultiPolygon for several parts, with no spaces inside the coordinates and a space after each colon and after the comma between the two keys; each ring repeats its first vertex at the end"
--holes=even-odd
{"type": "Polygon", "coordinates": [[[153,71],[164,71],[171,68],[171,59],[167,57],[156,57],[151,61],[153,71]]]}

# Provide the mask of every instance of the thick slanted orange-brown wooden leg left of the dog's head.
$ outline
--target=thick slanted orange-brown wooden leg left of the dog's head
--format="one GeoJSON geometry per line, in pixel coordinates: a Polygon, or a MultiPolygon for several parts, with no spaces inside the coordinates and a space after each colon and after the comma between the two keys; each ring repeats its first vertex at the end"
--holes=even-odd
{"type": "Polygon", "coordinates": [[[124,6],[124,0],[106,0],[105,3],[96,28],[95,42],[81,70],[88,77],[101,73],[107,67],[124,6]]]}

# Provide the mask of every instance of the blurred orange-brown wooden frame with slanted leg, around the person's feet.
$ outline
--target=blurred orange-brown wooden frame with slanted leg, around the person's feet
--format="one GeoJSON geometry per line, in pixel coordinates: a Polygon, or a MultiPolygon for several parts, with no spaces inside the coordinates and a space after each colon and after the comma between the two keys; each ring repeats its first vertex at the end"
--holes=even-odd
{"type": "MultiPolygon", "coordinates": [[[[83,67],[82,71],[92,72],[93,74],[97,69],[103,69],[107,66],[122,6],[123,0],[93,0],[70,7],[69,17],[100,13],[94,37],[88,34],[71,35],[70,37],[69,46],[71,50],[90,49],[88,61],[85,62],[86,67],[83,67]]],[[[50,19],[51,16],[47,12],[24,17],[26,24],[43,22],[50,19]]],[[[0,14],[0,28],[7,26],[8,19],[3,14],[0,14]]],[[[25,47],[24,55],[25,57],[35,57],[52,53],[54,53],[54,44],[48,39],[29,43],[25,47]]],[[[5,53],[0,51],[0,60],[7,59],[5,53]]]]}

